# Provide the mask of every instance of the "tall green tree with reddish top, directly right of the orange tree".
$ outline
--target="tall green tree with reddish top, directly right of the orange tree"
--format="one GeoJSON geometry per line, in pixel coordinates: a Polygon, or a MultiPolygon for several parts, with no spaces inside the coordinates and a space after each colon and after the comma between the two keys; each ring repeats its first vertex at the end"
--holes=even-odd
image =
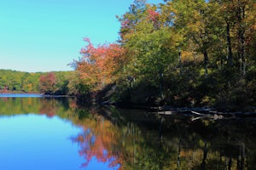
{"type": "Polygon", "coordinates": [[[135,1],[119,20],[121,42],[128,58],[126,76],[158,87],[163,98],[163,79],[177,56],[177,36],[166,26],[159,10],[155,5],[135,1]]]}

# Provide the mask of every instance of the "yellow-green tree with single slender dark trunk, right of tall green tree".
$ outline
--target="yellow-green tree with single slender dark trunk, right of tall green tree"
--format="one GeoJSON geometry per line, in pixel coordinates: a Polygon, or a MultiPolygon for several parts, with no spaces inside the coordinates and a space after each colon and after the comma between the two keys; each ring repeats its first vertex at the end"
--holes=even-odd
{"type": "Polygon", "coordinates": [[[185,41],[195,43],[195,52],[204,57],[205,75],[208,75],[209,51],[218,34],[218,6],[204,0],[172,1],[174,26],[183,30],[185,41]]]}

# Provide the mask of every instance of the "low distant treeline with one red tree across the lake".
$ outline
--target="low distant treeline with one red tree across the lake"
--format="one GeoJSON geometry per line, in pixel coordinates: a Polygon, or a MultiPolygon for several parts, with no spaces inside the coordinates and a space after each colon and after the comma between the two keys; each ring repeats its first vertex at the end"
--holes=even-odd
{"type": "Polygon", "coordinates": [[[0,70],[0,93],[79,94],[74,71],[24,72],[0,70]]]}

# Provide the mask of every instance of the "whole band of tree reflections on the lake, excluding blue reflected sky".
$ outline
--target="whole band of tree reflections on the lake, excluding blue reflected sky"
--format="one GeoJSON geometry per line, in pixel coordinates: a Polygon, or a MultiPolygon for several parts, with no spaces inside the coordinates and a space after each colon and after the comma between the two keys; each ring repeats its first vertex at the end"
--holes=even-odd
{"type": "MultiPolygon", "coordinates": [[[[4,116],[34,113],[58,116],[81,127],[73,134],[83,158],[109,169],[253,169],[256,121],[161,117],[144,111],[76,105],[74,99],[0,98],[4,116]]],[[[1,119],[1,117],[0,117],[1,119]]],[[[92,167],[93,168],[93,167],[92,167]]],[[[75,167],[73,168],[75,169],[75,167]]]]}

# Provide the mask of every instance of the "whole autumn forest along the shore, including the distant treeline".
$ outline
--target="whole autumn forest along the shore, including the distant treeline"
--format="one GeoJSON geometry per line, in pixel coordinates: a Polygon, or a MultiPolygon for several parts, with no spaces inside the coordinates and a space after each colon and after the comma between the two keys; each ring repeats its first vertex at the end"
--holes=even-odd
{"type": "Polygon", "coordinates": [[[74,71],[2,70],[0,89],[120,106],[250,110],[256,106],[255,14],[254,0],[135,0],[116,16],[116,42],[84,37],[79,59],[69,64],[74,71]]]}

